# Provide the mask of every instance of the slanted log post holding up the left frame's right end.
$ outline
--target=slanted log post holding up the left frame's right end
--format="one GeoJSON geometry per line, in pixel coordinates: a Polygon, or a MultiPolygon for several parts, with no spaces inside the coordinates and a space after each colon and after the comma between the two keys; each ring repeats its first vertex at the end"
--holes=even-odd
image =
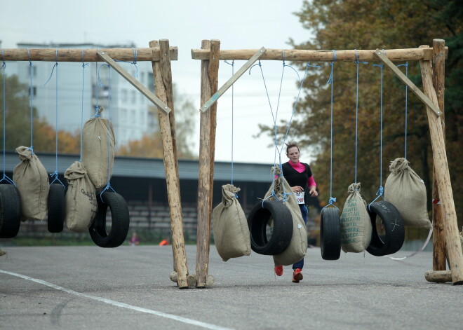
{"type": "MultiPolygon", "coordinates": [[[[158,41],[150,41],[150,47],[158,46],[158,41]]],[[[166,67],[166,64],[164,64],[166,67]]],[[[163,84],[163,76],[161,63],[152,62],[154,88],[156,96],[164,103],[168,102],[166,88],[163,84]]],[[[171,81],[171,79],[170,79],[171,81]]],[[[170,92],[172,88],[170,87],[170,92]]],[[[173,107],[172,107],[173,109],[173,107]]],[[[173,112],[173,111],[171,111],[173,112]]],[[[161,130],[162,149],[164,156],[164,167],[166,170],[167,195],[170,207],[170,230],[172,232],[172,249],[174,255],[175,270],[177,271],[177,285],[180,289],[188,287],[187,275],[187,254],[185,252],[185,243],[183,236],[182,224],[182,205],[180,203],[180,187],[178,186],[177,171],[175,170],[175,162],[177,155],[173,150],[173,137],[170,130],[169,115],[158,109],[159,130],[161,130]]]]}

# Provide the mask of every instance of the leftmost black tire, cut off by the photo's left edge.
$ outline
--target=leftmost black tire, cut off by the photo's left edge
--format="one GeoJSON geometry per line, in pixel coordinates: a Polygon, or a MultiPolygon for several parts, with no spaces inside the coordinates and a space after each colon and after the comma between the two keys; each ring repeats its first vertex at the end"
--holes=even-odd
{"type": "Polygon", "coordinates": [[[21,224],[21,198],[13,184],[0,184],[0,238],[14,238],[21,224]]]}

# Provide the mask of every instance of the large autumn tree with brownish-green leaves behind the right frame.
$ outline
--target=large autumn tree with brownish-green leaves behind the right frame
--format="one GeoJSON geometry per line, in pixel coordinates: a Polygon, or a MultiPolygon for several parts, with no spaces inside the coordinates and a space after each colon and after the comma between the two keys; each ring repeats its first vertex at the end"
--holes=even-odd
{"type": "MultiPolygon", "coordinates": [[[[398,0],[321,0],[304,1],[295,13],[314,36],[297,44],[296,49],[342,50],[375,48],[416,48],[445,39],[449,47],[445,62],[445,119],[447,153],[458,218],[462,219],[462,165],[457,160],[462,146],[461,122],[463,96],[463,6],[461,1],[398,1],[398,0]]],[[[290,136],[306,149],[314,150],[313,172],[318,181],[321,200],[330,197],[330,64],[318,63],[321,69],[309,70],[304,83],[306,93],[297,104],[297,114],[290,136]]],[[[403,64],[403,63],[396,63],[403,64]]],[[[301,64],[301,67],[303,64],[301,64]]],[[[409,63],[409,76],[421,85],[420,67],[409,63]]],[[[389,174],[389,162],[405,156],[405,88],[390,70],[384,69],[382,139],[382,172],[380,172],[380,68],[372,63],[359,64],[358,83],[358,150],[357,181],[367,202],[372,201],[389,174]]],[[[356,64],[334,64],[333,120],[333,197],[342,206],[347,187],[355,179],[356,132],[356,64]]],[[[282,135],[287,123],[278,128],[282,135]]],[[[262,132],[273,128],[261,127],[262,132]]],[[[426,110],[408,92],[407,158],[412,168],[424,179],[431,200],[431,143],[426,110]]]]}

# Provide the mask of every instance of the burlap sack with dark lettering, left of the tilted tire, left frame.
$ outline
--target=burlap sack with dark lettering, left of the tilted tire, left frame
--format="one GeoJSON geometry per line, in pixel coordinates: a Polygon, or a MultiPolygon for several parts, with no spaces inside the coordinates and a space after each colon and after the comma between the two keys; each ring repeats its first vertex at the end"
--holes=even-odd
{"type": "Polygon", "coordinates": [[[69,184],[65,197],[65,224],[69,231],[88,231],[98,210],[95,186],[80,162],[69,166],[65,178],[69,184]]]}

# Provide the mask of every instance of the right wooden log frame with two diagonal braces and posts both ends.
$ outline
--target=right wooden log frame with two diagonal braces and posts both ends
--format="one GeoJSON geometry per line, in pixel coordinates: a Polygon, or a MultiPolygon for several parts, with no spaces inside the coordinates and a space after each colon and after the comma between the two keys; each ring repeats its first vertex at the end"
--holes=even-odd
{"type": "MultiPolygon", "coordinates": [[[[336,62],[380,61],[424,103],[427,109],[433,154],[432,197],[441,201],[433,204],[433,271],[425,278],[431,282],[463,284],[463,252],[459,239],[457,214],[453,200],[444,134],[445,41],[434,39],[433,46],[387,50],[336,50],[336,62]],[[422,92],[392,61],[419,61],[422,92]],[[450,271],[446,270],[448,261],[450,271]]],[[[198,227],[196,245],[196,287],[206,287],[210,249],[210,221],[214,174],[215,130],[217,99],[256,60],[283,60],[304,62],[333,62],[332,50],[276,50],[243,49],[220,50],[220,41],[203,40],[201,49],[192,49],[192,58],[201,60],[201,122],[199,147],[198,227]],[[220,60],[247,60],[229,81],[217,90],[220,60]]]]}

